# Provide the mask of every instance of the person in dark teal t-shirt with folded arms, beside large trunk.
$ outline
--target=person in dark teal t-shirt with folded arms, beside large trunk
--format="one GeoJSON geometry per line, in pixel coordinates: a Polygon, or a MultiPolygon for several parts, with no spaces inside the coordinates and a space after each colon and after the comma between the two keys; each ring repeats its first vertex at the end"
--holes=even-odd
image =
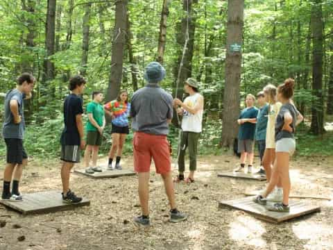
{"type": "Polygon", "coordinates": [[[241,165],[234,172],[243,172],[246,158],[248,157],[248,174],[252,173],[253,165],[253,145],[255,140],[255,124],[257,122],[258,109],[255,104],[255,96],[246,96],[246,108],[241,111],[237,120],[239,126],[238,133],[238,152],[241,153],[241,165]]]}

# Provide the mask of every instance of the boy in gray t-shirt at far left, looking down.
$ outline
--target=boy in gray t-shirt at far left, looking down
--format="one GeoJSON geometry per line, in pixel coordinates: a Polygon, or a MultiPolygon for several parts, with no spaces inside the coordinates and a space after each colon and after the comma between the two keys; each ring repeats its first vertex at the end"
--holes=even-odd
{"type": "Polygon", "coordinates": [[[3,191],[1,199],[22,201],[19,194],[19,180],[22,170],[28,163],[28,156],[23,147],[24,139],[24,99],[31,97],[35,78],[23,73],[17,78],[17,88],[10,90],[5,97],[2,135],[7,147],[7,165],[3,172],[3,191]],[[12,192],[10,181],[12,180],[12,192]]]}

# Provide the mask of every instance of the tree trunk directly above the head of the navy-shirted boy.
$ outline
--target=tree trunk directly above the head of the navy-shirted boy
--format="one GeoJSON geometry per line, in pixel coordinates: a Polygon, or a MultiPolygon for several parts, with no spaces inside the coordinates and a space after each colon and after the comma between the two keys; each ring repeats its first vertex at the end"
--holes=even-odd
{"type": "Polygon", "coordinates": [[[82,58],[80,74],[85,76],[87,73],[88,53],[89,53],[89,17],[92,10],[92,3],[85,6],[85,15],[83,16],[83,40],[82,40],[82,58]]]}

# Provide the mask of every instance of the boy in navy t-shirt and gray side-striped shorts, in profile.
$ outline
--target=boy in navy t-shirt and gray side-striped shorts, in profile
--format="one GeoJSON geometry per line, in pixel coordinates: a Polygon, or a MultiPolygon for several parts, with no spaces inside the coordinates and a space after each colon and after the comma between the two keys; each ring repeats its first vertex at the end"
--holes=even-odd
{"type": "Polygon", "coordinates": [[[82,201],[69,189],[69,176],[75,163],[80,163],[80,149],[85,149],[83,132],[83,101],[79,97],[85,89],[85,78],[73,76],[69,80],[69,94],[64,101],[64,123],[60,143],[62,160],[61,181],[62,201],[64,203],[78,203],[82,201]]]}

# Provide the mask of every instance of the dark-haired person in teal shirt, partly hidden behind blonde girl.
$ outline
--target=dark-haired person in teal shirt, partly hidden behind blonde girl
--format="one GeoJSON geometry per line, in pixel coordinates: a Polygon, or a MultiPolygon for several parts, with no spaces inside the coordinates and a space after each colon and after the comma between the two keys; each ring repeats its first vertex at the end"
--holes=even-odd
{"type": "Polygon", "coordinates": [[[257,94],[257,103],[259,106],[259,112],[257,116],[257,126],[255,128],[255,141],[258,145],[259,157],[260,157],[260,169],[257,174],[266,176],[264,167],[262,167],[262,158],[266,148],[266,128],[268,122],[268,104],[266,103],[264,91],[260,91],[257,94]]]}

